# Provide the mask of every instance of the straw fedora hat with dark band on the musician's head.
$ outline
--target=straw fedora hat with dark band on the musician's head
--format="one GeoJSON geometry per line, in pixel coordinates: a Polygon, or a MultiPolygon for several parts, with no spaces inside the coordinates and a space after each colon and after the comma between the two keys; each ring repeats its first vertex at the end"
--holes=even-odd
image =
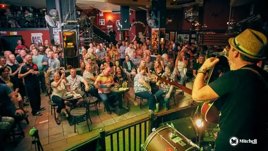
{"type": "Polygon", "coordinates": [[[264,46],[267,44],[267,38],[261,32],[252,29],[246,29],[235,38],[230,38],[229,43],[241,54],[249,58],[266,58],[264,46]]]}

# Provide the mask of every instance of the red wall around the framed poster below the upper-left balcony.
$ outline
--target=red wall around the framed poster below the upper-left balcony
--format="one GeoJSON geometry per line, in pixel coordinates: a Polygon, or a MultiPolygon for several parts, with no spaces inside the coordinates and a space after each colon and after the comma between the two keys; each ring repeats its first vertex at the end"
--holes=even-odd
{"type": "MultiPolygon", "coordinates": [[[[3,30],[1,30],[3,31],[3,30]]],[[[50,43],[50,35],[49,35],[49,30],[24,30],[24,31],[3,31],[6,32],[6,34],[1,33],[1,36],[11,36],[10,32],[17,32],[17,35],[14,36],[22,36],[23,39],[23,43],[24,45],[26,45],[28,48],[30,47],[30,43],[32,43],[32,39],[31,39],[31,34],[32,33],[42,33],[42,40],[43,43],[45,43],[45,40],[48,40],[48,42],[50,43]]]]}

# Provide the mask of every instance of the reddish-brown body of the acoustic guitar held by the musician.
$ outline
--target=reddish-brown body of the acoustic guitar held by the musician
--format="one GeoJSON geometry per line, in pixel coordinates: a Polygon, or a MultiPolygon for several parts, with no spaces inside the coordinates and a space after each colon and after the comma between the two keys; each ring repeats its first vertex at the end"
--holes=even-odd
{"type": "Polygon", "coordinates": [[[207,122],[217,124],[220,111],[213,105],[213,103],[204,103],[201,108],[201,114],[207,122]]]}

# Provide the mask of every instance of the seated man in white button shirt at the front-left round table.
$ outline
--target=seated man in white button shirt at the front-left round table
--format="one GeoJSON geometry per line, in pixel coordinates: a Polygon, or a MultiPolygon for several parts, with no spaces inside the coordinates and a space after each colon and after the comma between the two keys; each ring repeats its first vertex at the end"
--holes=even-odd
{"type": "MultiPolygon", "coordinates": [[[[68,85],[70,85],[70,89],[72,91],[75,91],[76,89],[78,91],[81,91],[82,90],[81,83],[83,83],[85,85],[85,90],[86,91],[89,90],[87,81],[82,76],[77,75],[77,70],[75,68],[71,68],[70,74],[71,75],[69,75],[67,77],[67,80],[69,81],[69,84],[68,85]]],[[[78,106],[83,101],[84,101],[84,99],[81,98],[80,100],[77,101],[76,105],[78,106]]],[[[68,107],[72,107],[73,106],[72,102],[68,102],[66,105],[68,107]]]]}

